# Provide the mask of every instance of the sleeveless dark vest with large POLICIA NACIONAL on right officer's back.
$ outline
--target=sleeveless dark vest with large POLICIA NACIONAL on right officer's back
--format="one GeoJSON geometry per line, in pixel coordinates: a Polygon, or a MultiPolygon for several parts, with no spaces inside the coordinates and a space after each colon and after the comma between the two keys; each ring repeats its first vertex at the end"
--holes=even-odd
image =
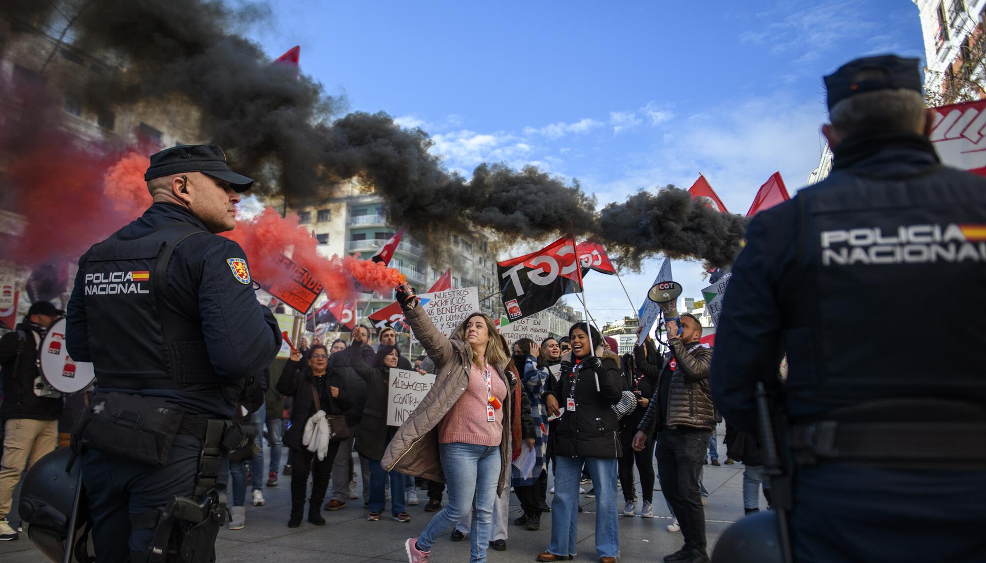
{"type": "Polygon", "coordinates": [[[942,166],[839,170],[797,203],[788,387],[832,407],[986,398],[983,183],[942,166]]]}

